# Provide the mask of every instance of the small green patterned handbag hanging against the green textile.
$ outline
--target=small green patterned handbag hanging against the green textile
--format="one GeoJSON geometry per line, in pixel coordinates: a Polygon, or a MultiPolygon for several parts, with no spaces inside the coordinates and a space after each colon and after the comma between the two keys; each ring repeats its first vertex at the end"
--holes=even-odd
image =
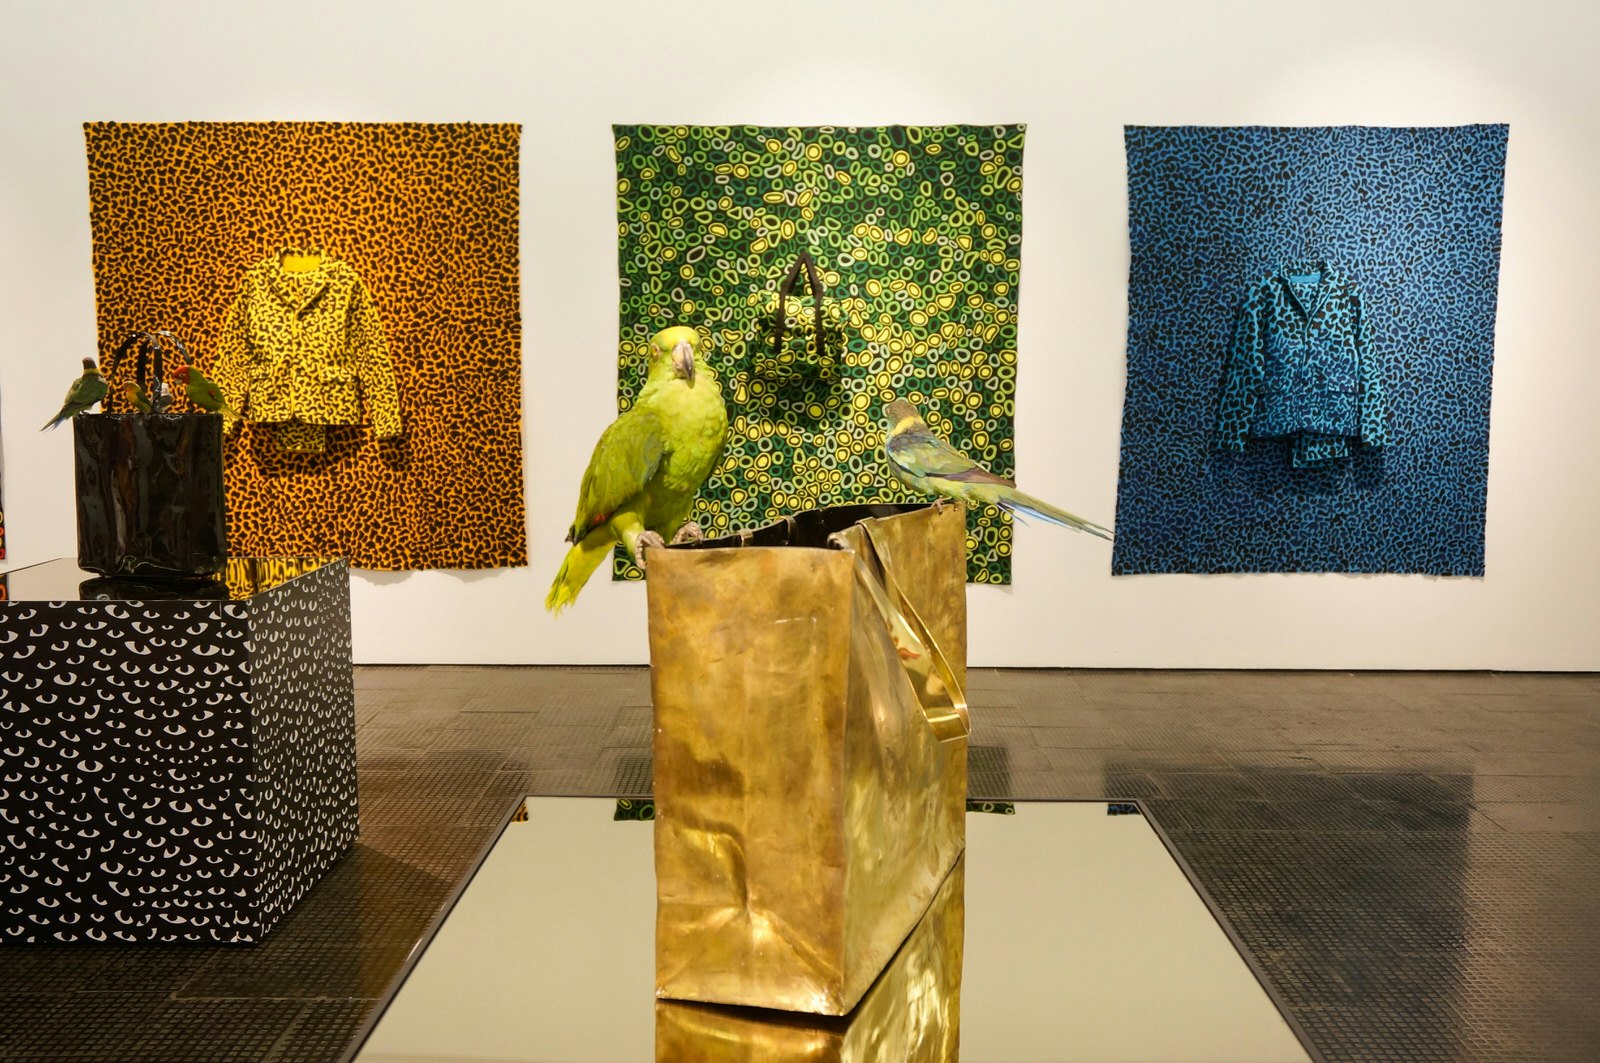
{"type": "Polygon", "coordinates": [[[750,371],[774,386],[816,384],[838,379],[838,360],[845,354],[845,320],[838,304],[822,290],[816,261],[805,251],[795,256],[778,291],[757,296],[755,352],[750,371]],[[805,271],[811,288],[811,314],[803,296],[795,296],[795,283],[805,271]]]}

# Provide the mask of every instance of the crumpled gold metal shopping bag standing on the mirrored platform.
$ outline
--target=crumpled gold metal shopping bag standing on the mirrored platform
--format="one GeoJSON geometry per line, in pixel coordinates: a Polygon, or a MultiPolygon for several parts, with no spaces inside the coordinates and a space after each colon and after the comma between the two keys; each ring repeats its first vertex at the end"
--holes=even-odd
{"type": "Polygon", "coordinates": [[[965,847],[966,520],[650,556],[656,994],[842,1015],[965,847]]]}

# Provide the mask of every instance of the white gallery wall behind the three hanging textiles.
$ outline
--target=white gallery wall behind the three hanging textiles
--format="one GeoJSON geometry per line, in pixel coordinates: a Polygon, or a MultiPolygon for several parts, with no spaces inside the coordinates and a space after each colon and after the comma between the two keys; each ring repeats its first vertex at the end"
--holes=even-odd
{"type": "Polygon", "coordinates": [[[558,621],[542,610],[616,408],[613,122],[1026,122],[1019,480],[1102,522],[1122,426],[1125,123],[1509,122],[1485,578],[1114,580],[1107,544],[1021,527],[1014,584],[970,589],[970,660],[1600,669],[1597,11],[0,0],[5,565],[75,551],[70,434],[37,427],[96,344],[85,120],[522,123],[531,564],[358,573],[360,663],[646,660],[640,584],[602,575],[558,621]]]}

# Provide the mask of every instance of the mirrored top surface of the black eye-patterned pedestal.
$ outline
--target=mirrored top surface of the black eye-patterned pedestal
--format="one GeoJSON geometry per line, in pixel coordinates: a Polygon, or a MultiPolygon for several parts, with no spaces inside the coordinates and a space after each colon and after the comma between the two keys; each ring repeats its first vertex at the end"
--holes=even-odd
{"type": "Polygon", "coordinates": [[[334,557],[229,557],[214,576],[194,580],[110,580],[58,557],[0,573],[0,602],[242,602],[296,576],[334,564],[334,557]]]}

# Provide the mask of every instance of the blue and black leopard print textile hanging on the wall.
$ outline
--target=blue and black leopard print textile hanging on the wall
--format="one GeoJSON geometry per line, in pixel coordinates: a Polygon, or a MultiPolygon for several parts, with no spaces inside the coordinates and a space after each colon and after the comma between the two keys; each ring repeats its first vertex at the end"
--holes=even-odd
{"type": "Polygon", "coordinates": [[[1114,575],[1483,575],[1506,138],[1504,125],[1125,130],[1114,575]],[[1283,304],[1306,299],[1315,323],[1317,272],[1294,275],[1307,263],[1360,307],[1347,343],[1360,336],[1381,407],[1349,439],[1238,439],[1224,386],[1246,303],[1278,279],[1283,304]]]}

